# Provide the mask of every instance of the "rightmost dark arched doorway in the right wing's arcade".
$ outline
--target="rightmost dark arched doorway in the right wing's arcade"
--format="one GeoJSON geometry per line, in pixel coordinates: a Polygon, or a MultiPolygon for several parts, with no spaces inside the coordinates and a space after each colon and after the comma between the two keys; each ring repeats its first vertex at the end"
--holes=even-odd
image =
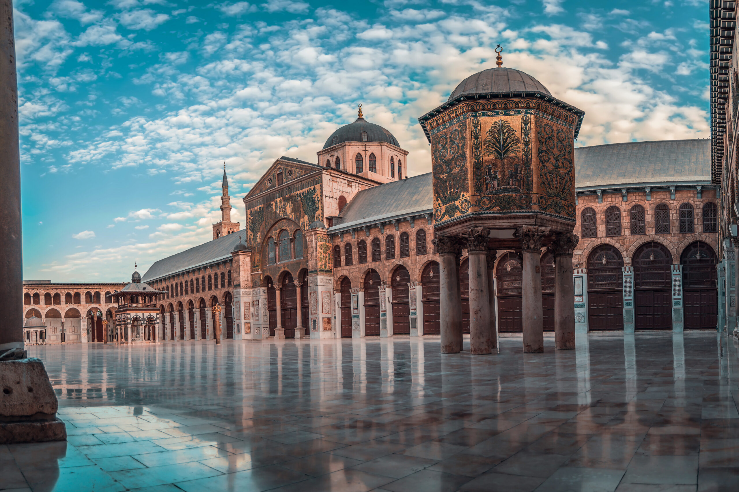
{"type": "Polygon", "coordinates": [[[718,324],[716,256],[713,248],[698,241],[680,255],[683,270],[684,327],[715,329],[718,324]]]}

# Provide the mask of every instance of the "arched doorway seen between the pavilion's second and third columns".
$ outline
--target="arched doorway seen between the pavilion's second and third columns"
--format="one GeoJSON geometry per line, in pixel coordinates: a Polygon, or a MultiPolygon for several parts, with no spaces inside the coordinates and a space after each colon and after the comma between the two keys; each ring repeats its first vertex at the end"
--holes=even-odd
{"type": "Polygon", "coordinates": [[[505,253],[505,256],[498,262],[495,272],[498,278],[498,332],[522,332],[523,299],[521,295],[521,284],[523,272],[518,255],[516,253],[505,253]]]}

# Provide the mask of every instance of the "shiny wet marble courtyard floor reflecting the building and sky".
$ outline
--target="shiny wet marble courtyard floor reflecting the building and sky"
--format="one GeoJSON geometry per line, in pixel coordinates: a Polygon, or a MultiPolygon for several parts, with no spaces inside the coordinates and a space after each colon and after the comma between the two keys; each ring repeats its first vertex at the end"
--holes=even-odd
{"type": "Polygon", "coordinates": [[[1,445],[0,489],[739,490],[733,338],[500,346],[487,356],[407,337],[31,346],[69,440],[1,445]]]}

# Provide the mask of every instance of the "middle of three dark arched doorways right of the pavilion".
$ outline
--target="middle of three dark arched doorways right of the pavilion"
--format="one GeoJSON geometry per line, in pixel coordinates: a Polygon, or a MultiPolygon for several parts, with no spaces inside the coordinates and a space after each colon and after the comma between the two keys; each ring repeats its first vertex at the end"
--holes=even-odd
{"type": "Polygon", "coordinates": [[[672,328],[672,255],[658,242],[647,242],[636,250],[634,307],[636,329],[672,328]]]}

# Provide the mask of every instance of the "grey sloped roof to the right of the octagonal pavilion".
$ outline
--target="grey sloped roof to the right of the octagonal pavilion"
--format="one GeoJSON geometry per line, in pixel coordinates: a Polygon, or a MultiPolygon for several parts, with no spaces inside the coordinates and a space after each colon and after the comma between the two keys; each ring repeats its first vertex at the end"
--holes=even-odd
{"type": "Polygon", "coordinates": [[[575,186],[710,182],[711,140],[610,143],[575,149],[575,186]]]}

